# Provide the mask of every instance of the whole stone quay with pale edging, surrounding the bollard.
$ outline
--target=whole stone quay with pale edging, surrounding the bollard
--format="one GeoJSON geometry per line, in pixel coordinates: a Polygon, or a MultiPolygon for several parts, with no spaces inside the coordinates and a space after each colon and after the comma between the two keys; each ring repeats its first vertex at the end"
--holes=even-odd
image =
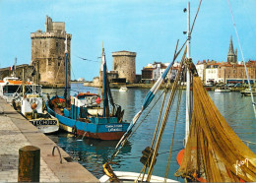
{"type": "Polygon", "coordinates": [[[67,152],[56,146],[47,136],[0,98],[0,182],[17,182],[19,149],[34,146],[40,149],[40,182],[98,182],[96,177],[67,152]]]}

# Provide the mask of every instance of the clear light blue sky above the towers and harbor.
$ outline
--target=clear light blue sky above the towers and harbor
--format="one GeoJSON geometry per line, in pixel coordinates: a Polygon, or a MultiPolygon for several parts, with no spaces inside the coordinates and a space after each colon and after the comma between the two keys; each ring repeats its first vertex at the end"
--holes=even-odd
{"type": "MultiPolygon", "coordinates": [[[[136,73],[149,63],[171,62],[185,41],[187,0],[0,0],[0,67],[30,64],[31,32],[45,31],[46,16],[72,34],[71,78],[98,76],[102,41],[108,70],[112,52],[136,52],[136,73]],[[89,59],[84,61],[79,57],[89,59]]],[[[191,25],[199,0],[190,2],[191,25]]],[[[256,60],[256,0],[230,0],[244,60],[256,60]]],[[[227,0],[203,0],[191,38],[191,57],[226,61],[230,36],[242,60],[227,0]]],[[[178,57],[179,61],[181,58],[178,57]]]]}

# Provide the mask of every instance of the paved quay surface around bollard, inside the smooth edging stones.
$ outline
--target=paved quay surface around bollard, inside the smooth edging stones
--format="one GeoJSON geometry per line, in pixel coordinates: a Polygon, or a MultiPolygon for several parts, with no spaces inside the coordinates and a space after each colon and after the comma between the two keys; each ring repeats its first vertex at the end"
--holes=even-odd
{"type": "MultiPolygon", "coordinates": [[[[19,149],[32,146],[11,118],[0,116],[0,182],[17,182],[19,149]]],[[[57,176],[40,158],[40,182],[59,182],[57,176]]]]}

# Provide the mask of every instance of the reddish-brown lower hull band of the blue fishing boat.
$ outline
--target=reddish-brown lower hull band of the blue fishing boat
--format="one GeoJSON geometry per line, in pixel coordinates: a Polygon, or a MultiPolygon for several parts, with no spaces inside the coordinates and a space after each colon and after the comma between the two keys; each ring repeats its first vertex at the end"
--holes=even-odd
{"type": "Polygon", "coordinates": [[[105,132],[105,133],[90,133],[82,130],[78,130],[77,134],[80,136],[85,136],[91,139],[99,139],[104,141],[120,140],[124,135],[124,132],[105,132]],[[85,134],[86,133],[86,134],[85,134]]]}

